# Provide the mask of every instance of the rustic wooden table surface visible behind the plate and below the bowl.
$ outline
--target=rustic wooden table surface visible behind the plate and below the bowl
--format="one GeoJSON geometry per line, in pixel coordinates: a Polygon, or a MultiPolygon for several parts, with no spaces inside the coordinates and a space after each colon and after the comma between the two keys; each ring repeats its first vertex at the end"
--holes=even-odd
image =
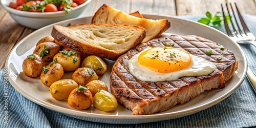
{"type": "MultiPolygon", "coordinates": [[[[221,4],[234,2],[239,5],[242,13],[256,15],[256,0],[92,0],[80,16],[92,16],[103,4],[108,4],[126,13],[139,11],[142,14],[203,15],[209,11],[215,14],[221,11],[221,4]]],[[[5,60],[12,48],[20,39],[33,31],[35,30],[17,24],[10,14],[0,6],[0,69],[4,68],[5,60]]]]}

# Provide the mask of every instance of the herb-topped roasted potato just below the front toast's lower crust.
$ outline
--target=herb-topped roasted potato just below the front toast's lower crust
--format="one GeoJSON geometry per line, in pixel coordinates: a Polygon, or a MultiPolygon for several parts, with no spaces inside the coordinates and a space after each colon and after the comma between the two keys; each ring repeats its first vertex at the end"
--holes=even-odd
{"type": "Polygon", "coordinates": [[[73,50],[59,51],[53,58],[57,58],[57,62],[63,67],[65,72],[74,71],[80,66],[80,55],[73,50]]]}

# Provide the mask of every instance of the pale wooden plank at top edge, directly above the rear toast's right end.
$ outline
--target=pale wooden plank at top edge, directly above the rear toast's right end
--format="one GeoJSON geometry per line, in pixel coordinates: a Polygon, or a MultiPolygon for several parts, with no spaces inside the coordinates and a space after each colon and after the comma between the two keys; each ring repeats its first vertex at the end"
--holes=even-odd
{"type": "Polygon", "coordinates": [[[139,11],[141,13],[176,15],[175,0],[172,0],[172,1],[170,0],[164,0],[164,1],[133,0],[131,11],[132,12],[139,11]]]}

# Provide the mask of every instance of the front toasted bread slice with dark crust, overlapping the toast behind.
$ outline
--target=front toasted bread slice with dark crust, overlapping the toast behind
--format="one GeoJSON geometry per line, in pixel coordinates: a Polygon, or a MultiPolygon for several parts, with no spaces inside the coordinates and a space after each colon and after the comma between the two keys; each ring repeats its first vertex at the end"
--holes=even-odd
{"type": "Polygon", "coordinates": [[[55,25],[52,37],[71,49],[102,58],[117,59],[145,38],[145,29],[132,25],[55,25]]]}

